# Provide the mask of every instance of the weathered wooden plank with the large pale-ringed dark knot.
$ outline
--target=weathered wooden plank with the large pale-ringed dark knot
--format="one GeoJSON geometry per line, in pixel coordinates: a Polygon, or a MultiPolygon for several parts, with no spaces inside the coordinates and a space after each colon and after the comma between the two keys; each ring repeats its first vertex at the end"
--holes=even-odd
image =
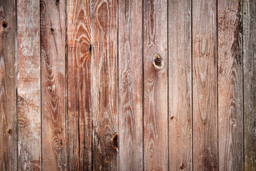
{"type": "Polygon", "coordinates": [[[167,1],[144,1],[144,170],[168,170],[167,1]]]}

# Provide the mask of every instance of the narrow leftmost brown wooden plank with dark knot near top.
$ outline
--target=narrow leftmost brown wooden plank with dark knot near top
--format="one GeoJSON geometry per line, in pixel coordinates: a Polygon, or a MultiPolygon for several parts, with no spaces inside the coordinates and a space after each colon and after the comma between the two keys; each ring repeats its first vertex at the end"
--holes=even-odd
{"type": "Polygon", "coordinates": [[[0,1],[0,170],[17,170],[15,12],[15,1],[0,1]]]}

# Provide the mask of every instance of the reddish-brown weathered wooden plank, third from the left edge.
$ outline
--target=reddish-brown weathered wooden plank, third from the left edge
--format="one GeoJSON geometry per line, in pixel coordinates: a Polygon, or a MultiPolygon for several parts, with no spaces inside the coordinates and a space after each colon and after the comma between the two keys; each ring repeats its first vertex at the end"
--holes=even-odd
{"type": "Polygon", "coordinates": [[[65,3],[41,0],[42,167],[65,170],[65,3]]]}

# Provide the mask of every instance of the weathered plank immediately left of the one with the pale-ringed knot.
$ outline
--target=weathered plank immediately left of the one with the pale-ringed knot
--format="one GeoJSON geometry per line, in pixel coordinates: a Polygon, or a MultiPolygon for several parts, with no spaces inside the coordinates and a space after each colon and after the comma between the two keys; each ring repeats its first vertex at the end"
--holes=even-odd
{"type": "Polygon", "coordinates": [[[119,170],[142,170],[142,1],[118,6],[119,170]]]}

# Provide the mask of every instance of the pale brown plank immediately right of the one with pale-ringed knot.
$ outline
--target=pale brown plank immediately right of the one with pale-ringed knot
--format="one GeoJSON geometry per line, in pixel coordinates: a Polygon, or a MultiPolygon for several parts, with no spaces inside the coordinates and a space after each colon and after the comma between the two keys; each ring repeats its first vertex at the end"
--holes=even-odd
{"type": "Polygon", "coordinates": [[[191,1],[169,1],[169,167],[192,170],[191,1]]]}

